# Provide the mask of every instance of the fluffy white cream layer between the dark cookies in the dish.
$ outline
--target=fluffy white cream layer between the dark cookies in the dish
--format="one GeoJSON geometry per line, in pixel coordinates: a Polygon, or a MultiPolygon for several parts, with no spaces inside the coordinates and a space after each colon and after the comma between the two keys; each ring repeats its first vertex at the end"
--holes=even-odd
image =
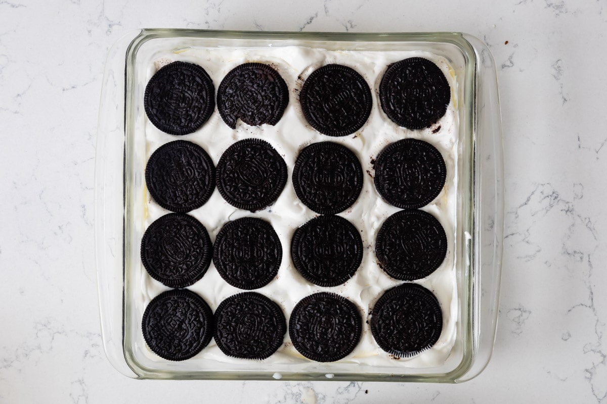
{"type": "MultiPolygon", "coordinates": [[[[460,345],[456,344],[458,296],[455,231],[458,180],[456,172],[458,167],[458,112],[455,96],[457,94],[455,74],[447,60],[424,51],[327,51],[297,46],[194,47],[183,48],[179,51],[159,50],[155,54],[154,63],[150,63],[143,73],[144,81],[147,82],[158,68],[173,61],[192,62],[205,68],[214,82],[215,90],[232,68],[245,62],[270,64],[279,71],[282,78],[287,82],[290,91],[289,104],[282,119],[275,126],[250,127],[239,121],[236,130],[232,130],[222,121],[215,108],[208,122],[195,133],[186,136],[171,136],[163,133],[155,128],[147,118],[144,118],[144,133],[135,133],[135,136],[145,137],[146,161],[161,145],[183,139],[203,147],[211,156],[214,164],[217,165],[226,148],[236,141],[249,137],[270,142],[285,159],[288,167],[287,185],[276,202],[270,207],[255,213],[236,209],[225,202],[215,188],[211,198],[203,207],[189,213],[205,225],[213,242],[219,230],[229,220],[253,216],[268,220],[272,224],[282,243],[282,265],[276,278],[268,285],[256,290],[256,292],[268,296],[278,303],[285,313],[287,322],[289,314],[300,299],[319,291],[337,293],[354,302],[360,309],[363,320],[361,340],[350,355],[336,364],[330,365],[333,366],[331,369],[336,369],[336,371],[356,371],[362,369],[359,366],[365,366],[367,370],[370,369],[366,365],[377,368],[433,368],[443,366],[447,358],[454,354],[454,351],[461,349],[459,348],[460,345]],[[398,127],[390,121],[379,105],[378,96],[379,82],[387,66],[413,56],[421,56],[435,62],[443,71],[452,90],[452,101],[443,118],[432,128],[416,131],[398,127]],[[311,71],[330,63],[344,64],[354,68],[366,79],[373,93],[373,108],[369,119],[359,131],[344,137],[325,136],[311,128],[305,121],[298,101],[299,90],[305,78],[310,75],[311,71]],[[376,261],[374,252],[376,234],[384,220],[399,209],[387,204],[379,197],[373,185],[372,176],[374,172],[371,161],[378,156],[386,145],[407,137],[430,142],[438,148],[446,162],[447,180],[444,189],[431,204],[422,208],[422,210],[432,213],[443,225],[447,234],[448,250],[446,259],[434,273],[424,279],[415,281],[431,290],[441,305],[443,312],[441,336],[432,348],[416,356],[396,360],[379,348],[367,323],[370,319],[370,309],[373,308],[376,300],[386,290],[403,283],[388,276],[379,268],[376,261]],[[362,264],[350,280],[344,285],[334,288],[321,288],[305,280],[294,268],[290,258],[290,243],[294,230],[317,216],[316,213],[302,204],[293,190],[291,184],[293,165],[302,148],[309,144],[324,141],[336,142],[350,148],[358,156],[362,169],[365,171],[364,185],[358,200],[350,208],[339,213],[339,216],[350,220],[359,230],[362,230],[361,236],[365,246],[362,264]]],[[[143,108],[140,108],[140,113],[143,114],[143,108]]],[[[144,220],[146,228],[158,217],[169,213],[169,211],[159,207],[149,194],[141,199],[144,200],[144,206],[135,215],[143,214],[143,217],[139,217],[144,220]]],[[[139,280],[140,286],[134,291],[136,312],[143,313],[151,299],[169,288],[152,279],[141,263],[135,263],[132,270],[135,271],[134,279],[139,280]]],[[[242,290],[225,282],[212,263],[205,276],[194,285],[189,286],[188,289],[202,296],[212,310],[215,310],[222,300],[242,292],[242,290]]],[[[143,346],[139,346],[139,348],[145,353],[150,363],[166,362],[152,353],[143,343],[143,339],[139,337],[140,331],[138,331],[137,338],[143,346]]],[[[188,369],[253,369],[263,368],[265,365],[260,366],[260,363],[262,363],[276,365],[277,370],[310,371],[316,368],[314,365],[318,365],[296,351],[288,332],[278,351],[262,361],[235,359],[225,356],[212,340],[202,352],[186,362],[188,362],[188,369]],[[280,367],[279,365],[282,364],[289,366],[288,368],[280,367]]]]}

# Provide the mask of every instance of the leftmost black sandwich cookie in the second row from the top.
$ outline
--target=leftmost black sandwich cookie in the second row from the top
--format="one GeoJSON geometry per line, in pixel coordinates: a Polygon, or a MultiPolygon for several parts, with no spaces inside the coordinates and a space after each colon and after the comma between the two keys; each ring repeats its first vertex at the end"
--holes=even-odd
{"type": "Polygon", "coordinates": [[[215,189],[215,166],[206,151],[188,141],[160,146],[146,165],[146,185],[158,205],[174,212],[200,208],[215,189]]]}

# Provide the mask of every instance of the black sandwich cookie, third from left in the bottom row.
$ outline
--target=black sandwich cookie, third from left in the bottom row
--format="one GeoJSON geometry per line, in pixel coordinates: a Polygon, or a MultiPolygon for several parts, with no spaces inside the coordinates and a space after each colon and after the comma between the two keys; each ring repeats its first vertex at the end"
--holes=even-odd
{"type": "Polygon", "coordinates": [[[289,320],[293,346],[316,362],[334,362],[348,356],[358,345],[361,330],[361,314],[356,305],[328,292],[304,297],[289,320]]]}

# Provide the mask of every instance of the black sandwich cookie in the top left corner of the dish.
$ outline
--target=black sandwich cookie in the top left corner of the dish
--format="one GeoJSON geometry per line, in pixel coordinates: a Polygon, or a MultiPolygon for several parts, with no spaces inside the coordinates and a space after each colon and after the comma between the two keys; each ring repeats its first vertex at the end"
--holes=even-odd
{"type": "Polygon", "coordinates": [[[143,107],[155,127],[169,134],[196,131],[215,108],[215,87],[202,67],[173,62],[146,85],[143,107]]]}

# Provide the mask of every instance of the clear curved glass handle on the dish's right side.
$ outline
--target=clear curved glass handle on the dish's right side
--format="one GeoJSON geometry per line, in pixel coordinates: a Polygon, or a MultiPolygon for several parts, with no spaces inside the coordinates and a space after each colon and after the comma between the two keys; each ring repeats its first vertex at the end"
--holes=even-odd
{"type": "Polygon", "coordinates": [[[473,319],[475,359],[457,382],[478,376],[493,353],[500,302],[504,234],[503,147],[495,60],[483,41],[464,34],[476,56],[474,213],[476,283],[473,319]]]}

